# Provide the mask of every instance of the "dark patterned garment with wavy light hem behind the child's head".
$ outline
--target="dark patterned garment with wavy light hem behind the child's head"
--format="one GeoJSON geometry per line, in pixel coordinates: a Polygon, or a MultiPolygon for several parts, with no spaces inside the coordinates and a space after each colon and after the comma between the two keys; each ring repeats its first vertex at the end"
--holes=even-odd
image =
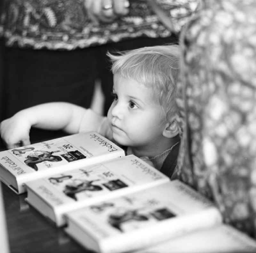
{"type": "MultiPolygon", "coordinates": [[[[175,32],[195,11],[198,0],[156,0],[172,19],[175,32]]],[[[95,24],[84,7],[84,0],[4,0],[0,36],[6,45],[34,49],[85,48],[140,36],[168,37],[146,0],[130,0],[129,14],[112,23],[95,24]]]]}

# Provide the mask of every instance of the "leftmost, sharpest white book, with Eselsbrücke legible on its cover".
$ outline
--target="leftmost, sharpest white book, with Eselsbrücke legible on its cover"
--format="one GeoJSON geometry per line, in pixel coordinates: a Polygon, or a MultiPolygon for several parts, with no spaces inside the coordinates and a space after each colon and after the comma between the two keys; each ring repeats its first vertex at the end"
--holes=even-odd
{"type": "Polygon", "coordinates": [[[0,152],[0,180],[20,194],[30,180],[124,155],[97,132],[78,133],[0,152]]]}

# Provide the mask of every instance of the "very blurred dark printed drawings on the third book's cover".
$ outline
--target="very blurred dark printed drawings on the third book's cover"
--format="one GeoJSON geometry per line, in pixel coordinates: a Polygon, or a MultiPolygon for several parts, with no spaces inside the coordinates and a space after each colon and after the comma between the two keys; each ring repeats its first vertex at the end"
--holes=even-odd
{"type": "Polygon", "coordinates": [[[159,194],[157,191],[156,194],[152,190],[149,192],[150,194],[146,190],[143,193],[90,205],[78,210],[75,216],[85,224],[88,219],[94,220],[101,226],[102,231],[108,231],[109,235],[150,227],[159,221],[177,216],[177,213],[170,208],[169,197],[157,196],[159,194]]]}

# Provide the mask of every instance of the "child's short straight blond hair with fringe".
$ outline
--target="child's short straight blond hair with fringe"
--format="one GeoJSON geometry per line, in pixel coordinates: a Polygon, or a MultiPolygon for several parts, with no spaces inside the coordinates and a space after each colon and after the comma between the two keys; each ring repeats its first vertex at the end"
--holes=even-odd
{"type": "Polygon", "coordinates": [[[113,74],[132,78],[153,89],[166,119],[176,112],[176,83],[179,75],[180,48],[178,45],[143,47],[118,55],[107,53],[113,74]]]}

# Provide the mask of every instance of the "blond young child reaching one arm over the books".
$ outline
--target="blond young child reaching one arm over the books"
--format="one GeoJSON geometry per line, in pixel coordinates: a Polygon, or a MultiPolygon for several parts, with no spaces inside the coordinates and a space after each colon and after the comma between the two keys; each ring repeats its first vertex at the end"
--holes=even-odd
{"type": "Polygon", "coordinates": [[[179,46],[144,47],[108,56],[113,62],[114,99],[107,117],[65,102],[30,107],[1,123],[7,148],[30,144],[31,126],[69,134],[95,130],[171,177],[180,141],[175,119],[179,46]]]}

